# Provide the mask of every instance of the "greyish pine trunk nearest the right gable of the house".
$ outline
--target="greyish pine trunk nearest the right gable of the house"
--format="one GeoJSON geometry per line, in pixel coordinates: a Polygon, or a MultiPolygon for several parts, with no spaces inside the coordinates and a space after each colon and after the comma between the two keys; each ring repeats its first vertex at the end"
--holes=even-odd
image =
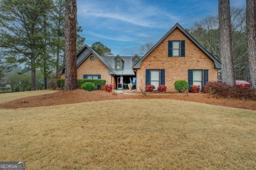
{"type": "Polygon", "coordinates": [[[230,86],[234,86],[234,63],[232,58],[232,39],[230,22],[229,0],[219,0],[219,30],[221,51],[221,73],[222,80],[230,86]]]}

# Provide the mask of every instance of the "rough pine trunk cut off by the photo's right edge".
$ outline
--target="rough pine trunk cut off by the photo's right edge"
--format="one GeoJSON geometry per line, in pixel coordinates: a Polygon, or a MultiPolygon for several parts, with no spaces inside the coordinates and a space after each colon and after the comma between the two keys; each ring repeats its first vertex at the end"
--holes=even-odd
{"type": "Polygon", "coordinates": [[[249,75],[252,88],[256,88],[256,0],[246,1],[246,31],[249,75]]]}

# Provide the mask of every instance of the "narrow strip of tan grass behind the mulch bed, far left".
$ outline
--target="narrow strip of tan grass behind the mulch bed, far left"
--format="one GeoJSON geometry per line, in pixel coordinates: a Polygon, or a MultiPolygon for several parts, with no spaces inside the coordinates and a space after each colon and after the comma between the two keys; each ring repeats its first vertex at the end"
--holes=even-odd
{"type": "Polygon", "coordinates": [[[57,90],[36,90],[27,92],[0,93],[0,104],[15,99],[58,92],[57,90]]]}

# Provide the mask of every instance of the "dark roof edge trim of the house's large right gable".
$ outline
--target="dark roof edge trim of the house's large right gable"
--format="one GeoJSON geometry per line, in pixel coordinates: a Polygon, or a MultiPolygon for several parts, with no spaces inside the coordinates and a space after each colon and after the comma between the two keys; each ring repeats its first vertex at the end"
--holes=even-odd
{"type": "Polygon", "coordinates": [[[218,59],[216,59],[214,56],[212,56],[211,54],[209,54],[209,52],[207,52],[207,50],[205,50],[205,48],[203,48],[203,46],[201,44],[199,44],[180,24],[175,24],[161,39],[160,41],[158,41],[158,43],[156,43],[146,54],[144,57],[142,57],[140,59],[140,61],[138,61],[138,63],[136,63],[133,68],[134,69],[139,69],[141,66],[142,61],[171,33],[173,32],[174,29],[179,28],[181,30],[182,33],[184,33],[184,35],[186,35],[186,37],[188,37],[188,39],[190,39],[190,41],[194,42],[194,44],[196,44],[196,46],[198,46],[198,48],[200,48],[200,50],[203,51],[203,53],[214,62],[214,66],[216,69],[221,69],[221,63],[218,61],[218,59]]]}

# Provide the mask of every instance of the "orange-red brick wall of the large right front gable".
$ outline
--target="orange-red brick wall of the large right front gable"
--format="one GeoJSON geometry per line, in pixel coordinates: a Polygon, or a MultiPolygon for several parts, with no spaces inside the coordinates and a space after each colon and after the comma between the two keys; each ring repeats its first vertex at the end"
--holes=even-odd
{"type": "MultiPolygon", "coordinates": [[[[168,35],[143,61],[137,71],[138,85],[145,82],[146,69],[165,69],[165,86],[174,92],[175,80],[188,81],[188,69],[209,69],[209,81],[217,80],[214,63],[178,28],[168,35]],[[168,41],[185,40],[185,57],[168,57],[168,41]]],[[[139,88],[137,88],[139,89],[139,88]]]]}

